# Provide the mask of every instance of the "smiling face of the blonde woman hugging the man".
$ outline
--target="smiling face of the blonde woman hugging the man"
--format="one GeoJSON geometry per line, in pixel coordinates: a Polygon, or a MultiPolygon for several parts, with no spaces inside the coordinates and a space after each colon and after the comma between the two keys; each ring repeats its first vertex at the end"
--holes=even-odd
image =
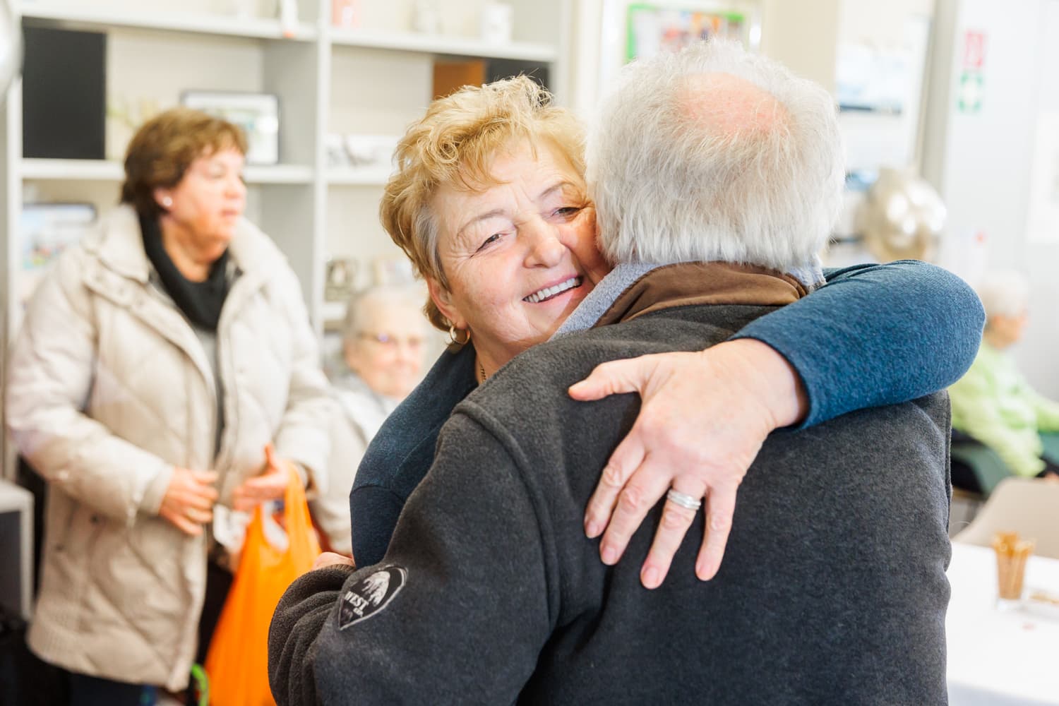
{"type": "Polygon", "coordinates": [[[495,366],[546,341],[607,266],[595,245],[585,180],[562,155],[516,144],[493,159],[497,184],[434,197],[438,252],[449,282],[434,303],[495,366]]]}

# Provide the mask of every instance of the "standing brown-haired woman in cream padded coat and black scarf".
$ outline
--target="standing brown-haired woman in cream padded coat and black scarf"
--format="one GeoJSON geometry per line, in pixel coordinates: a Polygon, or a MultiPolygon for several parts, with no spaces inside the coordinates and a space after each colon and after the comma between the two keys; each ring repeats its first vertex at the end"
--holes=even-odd
{"type": "Polygon", "coordinates": [[[29,642],[74,703],[183,688],[215,505],[326,473],[333,403],[298,279],[243,218],[245,152],[203,113],[145,124],[123,204],[59,258],[12,354],[8,429],[49,484],[29,642]]]}

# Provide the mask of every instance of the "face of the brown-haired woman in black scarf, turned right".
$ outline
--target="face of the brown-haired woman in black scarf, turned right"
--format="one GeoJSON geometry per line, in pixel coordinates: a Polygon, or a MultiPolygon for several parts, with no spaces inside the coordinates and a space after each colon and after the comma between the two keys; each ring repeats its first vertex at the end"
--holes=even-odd
{"type": "Polygon", "coordinates": [[[243,152],[220,149],[198,157],[173,188],[159,188],[156,199],[208,260],[225,252],[247,205],[243,152]],[[166,205],[166,198],[168,205],[166,205]]]}

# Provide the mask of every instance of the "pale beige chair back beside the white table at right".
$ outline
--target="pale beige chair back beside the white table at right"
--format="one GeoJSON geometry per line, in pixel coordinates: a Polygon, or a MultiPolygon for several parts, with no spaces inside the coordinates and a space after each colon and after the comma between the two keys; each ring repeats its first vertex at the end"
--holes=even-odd
{"type": "Polygon", "coordinates": [[[1017,531],[1037,543],[1034,554],[1059,559],[1059,483],[1020,477],[1001,481],[974,521],[952,541],[992,546],[999,531],[1017,531]]]}

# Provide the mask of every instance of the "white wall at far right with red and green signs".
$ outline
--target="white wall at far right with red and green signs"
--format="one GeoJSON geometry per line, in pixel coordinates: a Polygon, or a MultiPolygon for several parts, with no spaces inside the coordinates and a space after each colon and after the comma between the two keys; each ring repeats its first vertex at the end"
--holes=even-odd
{"type": "Polygon", "coordinates": [[[1034,241],[1026,218],[1038,115],[1059,110],[1059,0],[939,0],[938,6],[944,53],[931,76],[925,176],[949,207],[941,264],[968,279],[983,268],[1029,276],[1030,320],[1015,355],[1030,382],[1059,399],[1059,236],[1034,241]],[[986,34],[985,89],[973,112],[957,106],[967,31],[986,34]],[[980,235],[981,261],[967,257],[980,235]]]}

